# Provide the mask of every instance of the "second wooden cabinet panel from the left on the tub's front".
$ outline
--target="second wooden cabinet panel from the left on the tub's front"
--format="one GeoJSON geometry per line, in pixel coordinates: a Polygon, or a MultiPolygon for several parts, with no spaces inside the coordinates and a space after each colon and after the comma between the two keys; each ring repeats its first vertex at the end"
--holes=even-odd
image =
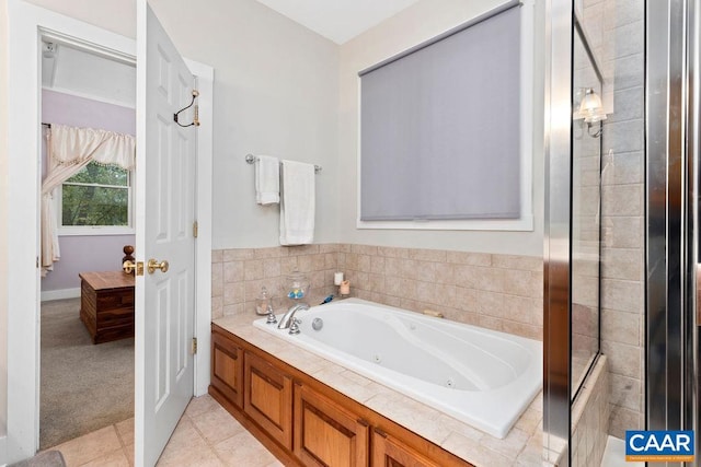
{"type": "Polygon", "coordinates": [[[273,439],[292,448],[292,380],[254,353],[245,352],[243,411],[273,439]]]}

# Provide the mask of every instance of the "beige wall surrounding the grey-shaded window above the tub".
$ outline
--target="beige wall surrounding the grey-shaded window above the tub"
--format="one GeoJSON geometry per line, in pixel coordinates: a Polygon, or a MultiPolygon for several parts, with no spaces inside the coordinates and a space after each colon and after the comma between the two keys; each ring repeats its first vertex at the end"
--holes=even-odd
{"type": "MultiPolygon", "coordinates": [[[[533,122],[533,232],[358,230],[358,71],[427,40],[503,3],[502,0],[421,0],[341,46],[338,233],[345,243],[541,256],[543,248],[543,12],[536,7],[533,122]]],[[[528,4],[522,8],[532,8],[528,4]]]]}

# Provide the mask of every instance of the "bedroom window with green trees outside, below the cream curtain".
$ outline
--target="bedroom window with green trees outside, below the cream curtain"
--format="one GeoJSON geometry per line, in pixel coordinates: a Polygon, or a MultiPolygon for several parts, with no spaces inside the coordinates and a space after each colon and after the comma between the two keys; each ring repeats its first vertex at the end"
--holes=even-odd
{"type": "Polygon", "coordinates": [[[120,167],[89,163],[64,182],[58,211],[64,234],[84,232],[85,227],[91,233],[95,233],[93,229],[130,229],[131,174],[120,167]]]}

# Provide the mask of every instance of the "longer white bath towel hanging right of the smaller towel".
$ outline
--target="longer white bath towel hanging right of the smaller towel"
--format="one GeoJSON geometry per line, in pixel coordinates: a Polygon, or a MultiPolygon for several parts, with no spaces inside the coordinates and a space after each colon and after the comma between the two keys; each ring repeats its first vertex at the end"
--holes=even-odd
{"type": "Polygon", "coordinates": [[[281,161],[280,245],[307,245],[314,240],[314,166],[281,161]]]}

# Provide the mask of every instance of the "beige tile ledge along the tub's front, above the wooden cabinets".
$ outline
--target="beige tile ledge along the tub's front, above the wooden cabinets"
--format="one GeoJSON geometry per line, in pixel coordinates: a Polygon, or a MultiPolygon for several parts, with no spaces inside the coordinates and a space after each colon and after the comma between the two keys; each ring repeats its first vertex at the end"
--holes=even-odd
{"type": "Polygon", "coordinates": [[[498,440],[292,343],[271,338],[253,326],[254,318],[250,314],[238,314],[214,323],[476,466],[541,465],[541,395],[529,405],[508,435],[498,440]]]}

